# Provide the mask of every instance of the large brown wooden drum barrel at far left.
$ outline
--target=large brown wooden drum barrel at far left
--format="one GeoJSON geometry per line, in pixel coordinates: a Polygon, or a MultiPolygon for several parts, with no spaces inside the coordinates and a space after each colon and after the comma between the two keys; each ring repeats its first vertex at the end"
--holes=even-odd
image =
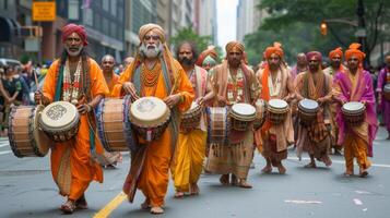
{"type": "Polygon", "coordinates": [[[54,144],[38,128],[44,106],[12,107],[8,137],[16,157],[44,157],[54,144]]]}

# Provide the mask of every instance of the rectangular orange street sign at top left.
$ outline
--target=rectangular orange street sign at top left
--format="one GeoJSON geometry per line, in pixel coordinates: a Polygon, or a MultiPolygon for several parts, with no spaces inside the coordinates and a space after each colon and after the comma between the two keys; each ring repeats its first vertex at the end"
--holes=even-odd
{"type": "Polygon", "coordinates": [[[33,2],[33,21],[55,21],[56,2],[33,2]]]}

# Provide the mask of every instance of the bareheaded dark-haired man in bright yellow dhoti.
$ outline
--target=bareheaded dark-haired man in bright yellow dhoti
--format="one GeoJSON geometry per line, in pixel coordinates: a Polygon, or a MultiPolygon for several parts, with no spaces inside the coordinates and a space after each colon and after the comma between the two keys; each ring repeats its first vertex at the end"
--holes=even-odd
{"type": "Polygon", "coordinates": [[[202,107],[199,125],[193,130],[180,129],[172,167],[172,177],[176,189],[175,197],[182,197],[185,192],[189,192],[191,195],[199,194],[197,182],[203,168],[208,135],[204,105],[214,97],[214,94],[208,80],[208,72],[194,64],[198,58],[196,46],[192,43],[184,41],[178,46],[176,56],[192,84],[196,94],[194,101],[202,107]]]}

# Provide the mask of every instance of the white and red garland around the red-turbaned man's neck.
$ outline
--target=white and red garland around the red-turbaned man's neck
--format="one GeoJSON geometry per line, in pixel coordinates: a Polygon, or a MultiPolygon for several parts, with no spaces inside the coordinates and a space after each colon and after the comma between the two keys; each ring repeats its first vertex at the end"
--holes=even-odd
{"type": "Polygon", "coordinates": [[[81,68],[81,59],[80,59],[74,72],[74,81],[72,82],[70,75],[69,60],[67,60],[66,66],[63,69],[62,100],[72,104],[78,102],[79,92],[80,92],[81,69],[82,68],[81,68]]]}

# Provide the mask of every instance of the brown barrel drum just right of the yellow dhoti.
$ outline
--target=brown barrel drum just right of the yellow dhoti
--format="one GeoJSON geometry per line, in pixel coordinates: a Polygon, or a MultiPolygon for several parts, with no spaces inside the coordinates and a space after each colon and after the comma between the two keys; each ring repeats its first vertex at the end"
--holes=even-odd
{"type": "Polygon", "coordinates": [[[208,113],[208,143],[226,144],[229,134],[231,121],[227,107],[209,107],[208,113]]]}

